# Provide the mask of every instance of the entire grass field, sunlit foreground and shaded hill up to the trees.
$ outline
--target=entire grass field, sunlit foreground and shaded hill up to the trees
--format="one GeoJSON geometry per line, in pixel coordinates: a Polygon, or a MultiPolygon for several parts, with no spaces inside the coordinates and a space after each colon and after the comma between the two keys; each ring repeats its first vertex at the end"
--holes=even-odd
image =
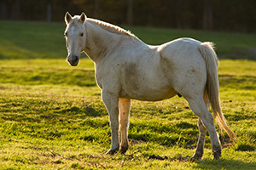
{"type": "MultiPolygon", "coordinates": [[[[255,35],[127,28],[151,44],[195,37],[215,42],[219,55],[255,59],[248,52],[256,47],[255,35]]],[[[131,147],[126,156],[105,156],[111,134],[94,65],[85,58],[78,67],[67,64],[64,29],[0,21],[0,169],[255,169],[255,61],[220,60],[222,107],[238,139],[234,146],[226,134],[221,137],[219,161],[212,161],[208,136],[203,160],[188,161],[198,138],[197,117],[178,97],[132,101],[131,147]],[[153,155],[168,159],[149,159],[153,155]]]]}

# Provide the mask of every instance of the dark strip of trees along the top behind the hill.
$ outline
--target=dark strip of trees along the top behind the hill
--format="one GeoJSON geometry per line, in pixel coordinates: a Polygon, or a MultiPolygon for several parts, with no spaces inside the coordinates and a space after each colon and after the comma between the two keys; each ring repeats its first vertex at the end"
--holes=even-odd
{"type": "Polygon", "coordinates": [[[116,25],[256,32],[255,7],[255,0],[0,0],[0,19],[63,21],[69,11],[116,25]]]}

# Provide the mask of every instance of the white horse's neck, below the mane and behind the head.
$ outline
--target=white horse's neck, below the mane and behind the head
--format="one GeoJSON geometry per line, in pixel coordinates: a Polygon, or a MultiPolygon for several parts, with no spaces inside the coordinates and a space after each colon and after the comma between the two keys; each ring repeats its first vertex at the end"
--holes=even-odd
{"type": "Polygon", "coordinates": [[[86,31],[86,47],[85,53],[89,55],[90,59],[96,62],[108,54],[109,51],[117,48],[117,44],[122,41],[124,35],[112,33],[104,30],[101,26],[96,26],[93,23],[87,23],[86,31]]]}

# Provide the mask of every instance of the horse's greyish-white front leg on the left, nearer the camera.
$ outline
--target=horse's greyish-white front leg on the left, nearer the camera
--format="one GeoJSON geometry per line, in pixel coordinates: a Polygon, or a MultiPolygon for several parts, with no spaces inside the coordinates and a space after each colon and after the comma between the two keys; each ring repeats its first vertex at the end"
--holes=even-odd
{"type": "Polygon", "coordinates": [[[119,98],[102,91],[102,100],[108,110],[111,127],[111,148],[106,154],[113,155],[119,150],[119,98]]]}

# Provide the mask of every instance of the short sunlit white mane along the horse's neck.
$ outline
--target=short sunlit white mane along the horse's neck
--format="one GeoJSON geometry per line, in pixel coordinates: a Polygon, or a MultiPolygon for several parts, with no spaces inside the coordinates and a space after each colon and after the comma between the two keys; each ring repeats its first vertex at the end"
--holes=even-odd
{"type": "Polygon", "coordinates": [[[131,31],[126,31],[125,29],[120,28],[119,26],[113,26],[112,24],[109,24],[108,22],[104,22],[102,20],[87,18],[86,21],[92,22],[97,26],[101,26],[104,30],[107,30],[116,34],[123,34],[130,37],[136,37],[134,34],[131,33],[131,31]]]}

